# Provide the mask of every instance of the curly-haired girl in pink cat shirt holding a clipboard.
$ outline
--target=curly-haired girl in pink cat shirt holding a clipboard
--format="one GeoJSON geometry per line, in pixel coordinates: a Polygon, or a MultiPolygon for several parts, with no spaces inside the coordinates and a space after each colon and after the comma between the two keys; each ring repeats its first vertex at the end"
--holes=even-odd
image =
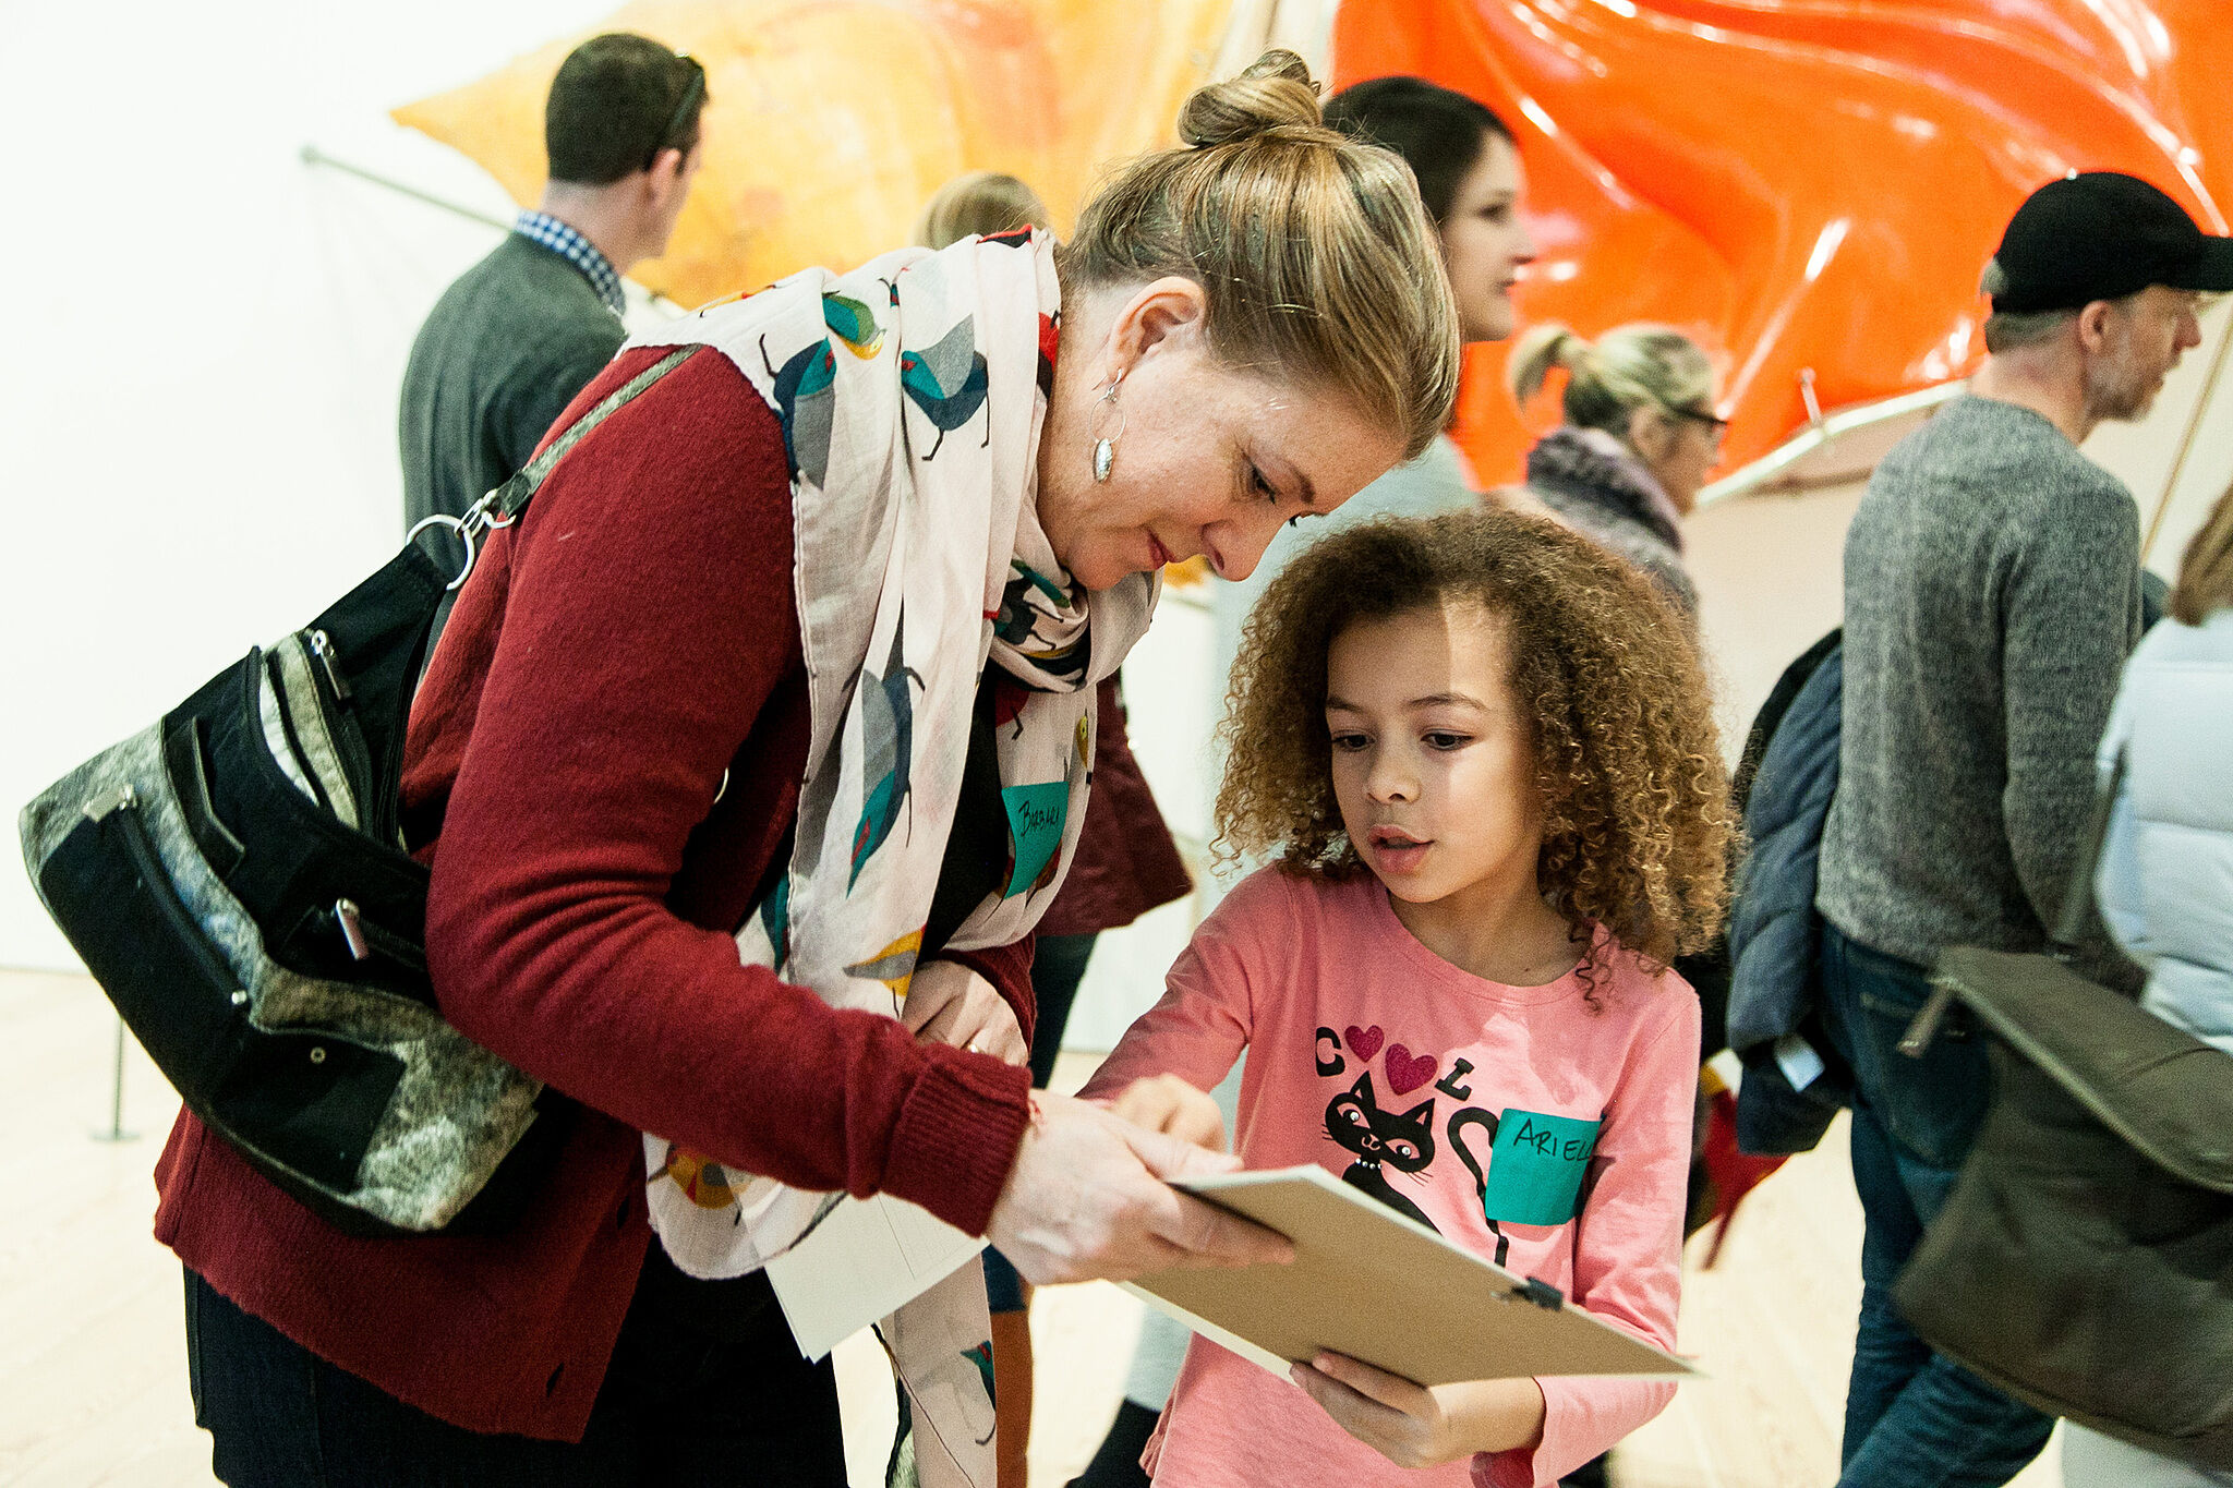
{"type": "MultiPolygon", "coordinates": [[[[1675,1343],[1697,997],[1666,966],[1726,895],[1728,781],[1684,625],[1617,558],[1458,511],[1306,549],[1233,671],[1224,848],[1275,857],[1210,915],[1085,1089],[1317,1162],[1398,1214],[1675,1343]]],[[[1556,1484],[1668,1383],[1422,1390],[1195,1339],[1157,1484],[1556,1484]]]]}

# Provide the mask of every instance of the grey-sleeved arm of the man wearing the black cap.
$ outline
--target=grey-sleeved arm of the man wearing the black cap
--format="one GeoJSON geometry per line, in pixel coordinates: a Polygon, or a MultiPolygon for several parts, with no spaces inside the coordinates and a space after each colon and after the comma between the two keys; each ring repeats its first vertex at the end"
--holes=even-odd
{"type": "MultiPolygon", "coordinates": [[[[2001,611],[2007,725],[2001,817],[2023,895],[2050,930],[2086,848],[2095,750],[2137,611],[2139,513],[2121,491],[2063,502],[2045,531],[2016,538],[2001,611]]],[[[2130,977],[2092,915],[2086,950],[2097,975],[2130,977]]]]}

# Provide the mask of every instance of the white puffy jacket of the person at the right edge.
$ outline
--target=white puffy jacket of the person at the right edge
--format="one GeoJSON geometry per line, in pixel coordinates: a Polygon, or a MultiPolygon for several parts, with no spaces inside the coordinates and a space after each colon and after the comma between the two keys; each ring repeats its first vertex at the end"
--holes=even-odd
{"type": "Polygon", "coordinates": [[[2233,1053],[2233,609],[2148,631],[2101,738],[2103,779],[2119,750],[2101,915],[2148,968],[2141,1006],[2233,1053]]]}

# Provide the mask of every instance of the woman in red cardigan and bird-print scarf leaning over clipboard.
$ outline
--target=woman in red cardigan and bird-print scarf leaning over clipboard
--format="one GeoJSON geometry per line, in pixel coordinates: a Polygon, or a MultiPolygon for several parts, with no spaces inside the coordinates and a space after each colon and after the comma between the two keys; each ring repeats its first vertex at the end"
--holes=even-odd
{"type": "MultiPolygon", "coordinates": [[[[442,1013],[563,1140],[502,1234],[360,1238],[181,1115],[156,1234],[221,1479],[837,1486],[831,1370],[759,1272],[835,1194],[1036,1283],[1284,1254],[1163,1182],[1221,1158],[1027,1091],[1029,930],[1152,576],[1244,576],[1416,455],[1458,339],[1409,174],[1300,60],[1181,136],[1061,250],[797,274],[560,417],[697,348],[491,533],[404,796],[442,1013]]],[[[931,1488],[989,1481],[976,1287],[887,1332],[931,1488]]]]}

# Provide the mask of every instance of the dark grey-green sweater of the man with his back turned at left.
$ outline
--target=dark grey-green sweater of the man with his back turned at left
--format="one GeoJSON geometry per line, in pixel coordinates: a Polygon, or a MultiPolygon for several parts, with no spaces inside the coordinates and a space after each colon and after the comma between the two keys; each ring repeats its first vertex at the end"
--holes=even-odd
{"type": "Polygon", "coordinates": [[[623,339],[587,274],[509,234],[442,292],[404,370],[404,522],[464,509],[527,464],[623,339]]]}

